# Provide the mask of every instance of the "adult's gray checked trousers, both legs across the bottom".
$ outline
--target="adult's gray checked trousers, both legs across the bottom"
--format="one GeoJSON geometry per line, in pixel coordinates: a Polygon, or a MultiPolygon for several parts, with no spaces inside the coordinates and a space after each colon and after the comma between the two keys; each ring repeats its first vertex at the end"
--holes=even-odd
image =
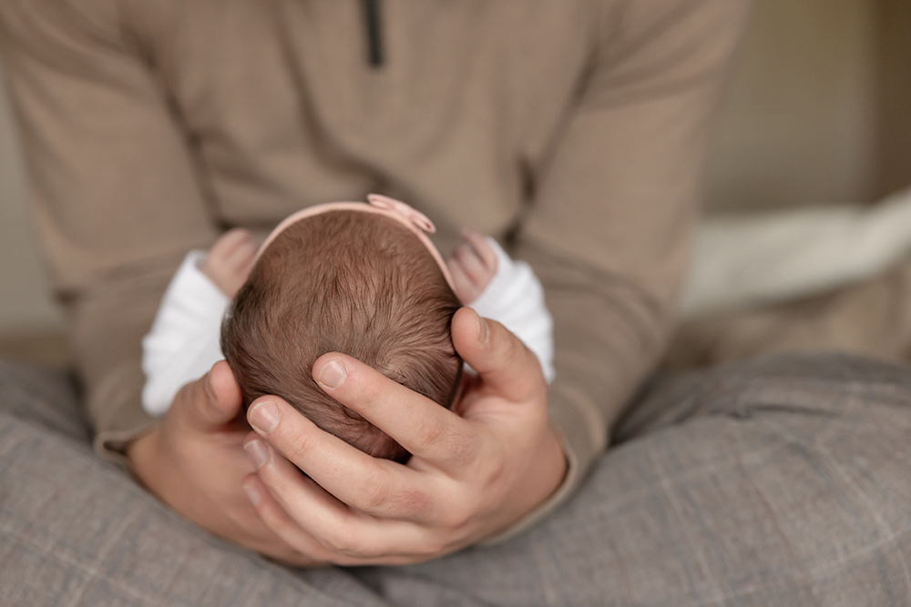
{"type": "Polygon", "coordinates": [[[0,363],[0,605],[907,605],[909,468],[911,368],[760,359],[653,382],[512,541],[294,571],[98,460],[61,375],[0,363]]]}

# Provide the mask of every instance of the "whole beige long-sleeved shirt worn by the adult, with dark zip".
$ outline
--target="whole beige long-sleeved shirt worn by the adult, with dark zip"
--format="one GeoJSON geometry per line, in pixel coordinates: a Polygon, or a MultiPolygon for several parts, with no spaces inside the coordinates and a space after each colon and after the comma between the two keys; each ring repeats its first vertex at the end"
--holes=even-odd
{"type": "Polygon", "coordinates": [[[660,356],[746,0],[5,0],[46,259],[101,452],[159,423],[139,340],[189,248],[368,192],[496,235],[556,326],[569,472],[660,356]]]}

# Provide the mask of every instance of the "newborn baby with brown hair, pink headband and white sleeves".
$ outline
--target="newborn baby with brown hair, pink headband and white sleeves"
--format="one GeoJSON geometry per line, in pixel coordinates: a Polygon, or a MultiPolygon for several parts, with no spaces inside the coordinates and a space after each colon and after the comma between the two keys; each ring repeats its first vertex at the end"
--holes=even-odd
{"type": "Polygon", "coordinates": [[[551,321],[527,264],[471,232],[444,262],[425,236],[434,231],[427,218],[391,198],[369,199],[304,209],[259,253],[241,230],[221,237],[204,258],[191,253],[143,340],[145,409],[163,413],[180,386],[221,358],[214,336],[226,307],[221,349],[244,404],[281,396],[375,457],[404,461],[409,454],[317,386],[312,364],[325,352],[349,354],[450,407],[463,367],[450,323],[471,304],[523,339],[552,379],[551,321]]]}

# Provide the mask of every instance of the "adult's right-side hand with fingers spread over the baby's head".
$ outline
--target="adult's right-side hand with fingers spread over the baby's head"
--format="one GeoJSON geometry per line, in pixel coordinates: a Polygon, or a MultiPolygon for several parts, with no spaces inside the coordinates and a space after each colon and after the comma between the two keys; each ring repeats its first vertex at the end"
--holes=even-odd
{"type": "Polygon", "coordinates": [[[313,365],[327,394],[413,454],[406,465],[354,449],[277,397],[252,403],[245,449],[257,473],[244,487],[277,536],[317,561],[426,561],[507,529],[557,489],[567,464],[537,359],[472,309],[458,310],[452,334],[479,374],[457,413],[349,356],[313,365]]]}

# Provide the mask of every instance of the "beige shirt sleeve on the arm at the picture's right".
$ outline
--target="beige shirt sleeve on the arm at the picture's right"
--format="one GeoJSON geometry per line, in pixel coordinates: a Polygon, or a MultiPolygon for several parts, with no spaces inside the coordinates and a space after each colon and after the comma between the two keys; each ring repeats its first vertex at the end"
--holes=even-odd
{"type": "Polygon", "coordinates": [[[568,473],[527,528],[583,480],[669,339],[701,173],[746,0],[602,3],[592,67],[517,234],[554,317],[551,421],[568,473]]]}

